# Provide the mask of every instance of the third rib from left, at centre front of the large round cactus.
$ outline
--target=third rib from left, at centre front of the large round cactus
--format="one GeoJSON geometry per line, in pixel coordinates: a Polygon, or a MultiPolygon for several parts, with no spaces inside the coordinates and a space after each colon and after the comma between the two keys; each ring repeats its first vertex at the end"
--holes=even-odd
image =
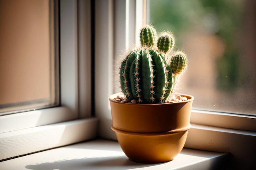
{"type": "Polygon", "coordinates": [[[144,102],[153,103],[155,87],[153,82],[153,64],[151,55],[147,49],[141,51],[141,81],[142,84],[142,95],[144,98],[144,102]]]}

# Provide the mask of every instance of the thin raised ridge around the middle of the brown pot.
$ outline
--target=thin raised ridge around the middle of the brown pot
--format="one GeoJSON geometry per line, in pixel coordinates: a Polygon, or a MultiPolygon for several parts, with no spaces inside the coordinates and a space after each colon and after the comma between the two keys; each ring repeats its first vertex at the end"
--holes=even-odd
{"type": "Polygon", "coordinates": [[[117,133],[122,133],[122,134],[126,134],[126,135],[133,135],[133,136],[148,136],[148,137],[150,137],[150,136],[173,135],[175,133],[185,132],[185,131],[189,130],[190,128],[191,128],[191,124],[189,124],[189,126],[186,126],[184,128],[174,129],[174,130],[170,130],[170,131],[167,131],[167,132],[144,133],[144,132],[128,132],[128,131],[125,131],[125,130],[117,129],[117,128],[113,127],[113,125],[111,125],[111,129],[114,132],[117,132],[117,133]]]}

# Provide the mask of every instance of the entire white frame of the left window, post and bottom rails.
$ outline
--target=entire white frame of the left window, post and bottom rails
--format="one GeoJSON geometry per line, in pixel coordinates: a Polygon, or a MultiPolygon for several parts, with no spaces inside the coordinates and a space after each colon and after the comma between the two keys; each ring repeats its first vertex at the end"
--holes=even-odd
{"type": "Polygon", "coordinates": [[[92,139],[89,0],[60,0],[61,106],[0,117],[0,160],[92,139]]]}

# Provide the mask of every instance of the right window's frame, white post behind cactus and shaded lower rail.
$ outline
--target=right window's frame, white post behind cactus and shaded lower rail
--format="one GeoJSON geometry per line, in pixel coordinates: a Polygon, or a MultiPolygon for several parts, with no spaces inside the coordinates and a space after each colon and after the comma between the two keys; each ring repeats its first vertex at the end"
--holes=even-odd
{"type": "MultiPolygon", "coordinates": [[[[110,104],[106,102],[114,93],[113,60],[131,42],[137,42],[139,36],[134,33],[143,24],[144,3],[144,0],[96,1],[95,95],[100,97],[95,111],[100,118],[99,134],[104,138],[116,139],[109,128],[112,121],[110,104]]],[[[229,152],[236,166],[252,165],[256,152],[256,117],[192,110],[191,124],[185,147],[229,152]]]]}

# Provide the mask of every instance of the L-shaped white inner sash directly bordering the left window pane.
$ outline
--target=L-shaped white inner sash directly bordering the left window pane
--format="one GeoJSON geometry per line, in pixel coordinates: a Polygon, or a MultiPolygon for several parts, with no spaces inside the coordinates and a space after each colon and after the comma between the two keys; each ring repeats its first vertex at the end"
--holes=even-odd
{"type": "MultiPolygon", "coordinates": [[[[65,3],[65,2],[63,2],[65,3]]],[[[76,41],[76,14],[75,4],[73,10],[65,9],[65,5],[60,7],[63,10],[60,11],[59,15],[68,18],[68,20],[60,20],[60,27],[64,27],[66,30],[60,31],[60,79],[61,79],[61,98],[60,106],[53,108],[45,108],[40,110],[32,110],[23,113],[9,114],[0,117],[0,129],[1,132],[8,132],[13,130],[20,130],[22,128],[31,128],[36,126],[43,126],[56,122],[72,120],[78,117],[77,112],[77,70],[75,66],[77,64],[77,43],[76,41]],[[73,18],[73,21],[72,21],[73,18]],[[67,37],[67,35],[70,35],[67,37]],[[68,40],[68,41],[67,41],[68,40]],[[72,56],[72,57],[70,57],[72,56]],[[65,71],[72,71],[67,73],[65,71]],[[66,90],[68,88],[69,90],[66,90]],[[74,93],[75,92],[75,93],[74,93]],[[76,103],[75,103],[76,102],[76,103]],[[68,109],[70,108],[70,110],[68,109]],[[54,113],[54,114],[53,114],[54,113]],[[43,119],[42,119],[43,117],[43,119]],[[40,119],[40,122],[38,122],[40,119]],[[22,122],[17,124],[17,121],[22,122]],[[13,124],[16,126],[13,127],[13,124]]],[[[62,18],[62,17],[60,17],[62,18]]],[[[57,33],[58,34],[58,33],[57,33]]],[[[57,45],[58,46],[58,45],[57,45]]],[[[58,51],[58,49],[56,49],[58,51]]],[[[58,56],[57,56],[58,57],[58,56]]]]}

